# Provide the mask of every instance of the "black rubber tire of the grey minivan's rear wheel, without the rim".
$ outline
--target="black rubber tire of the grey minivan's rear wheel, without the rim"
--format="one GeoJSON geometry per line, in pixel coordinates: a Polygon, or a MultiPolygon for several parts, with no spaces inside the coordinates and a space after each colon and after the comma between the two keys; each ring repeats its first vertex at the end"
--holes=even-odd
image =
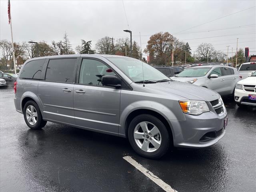
{"type": "Polygon", "coordinates": [[[26,102],[26,104],[23,108],[23,116],[24,116],[24,120],[25,120],[27,126],[31,129],[41,129],[47,123],[47,121],[43,120],[42,114],[40,112],[40,109],[39,109],[38,105],[36,104],[36,102],[34,102],[32,100],[26,102]],[[36,118],[36,123],[34,125],[30,124],[28,122],[27,118],[26,118],[26,109],[27,109],[28,106],[33,106],[36,109],[37,118],[36,118]]]}

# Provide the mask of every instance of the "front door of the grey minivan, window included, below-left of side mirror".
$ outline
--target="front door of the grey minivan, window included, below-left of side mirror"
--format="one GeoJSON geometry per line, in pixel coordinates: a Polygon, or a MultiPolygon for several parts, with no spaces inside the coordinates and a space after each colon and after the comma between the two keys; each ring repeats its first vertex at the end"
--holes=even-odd
{"type": "Polygon", "coordinates": [[[100,79],[106,74],[115,75],[100,60],[82,59],[74,85],[75,122],[83,128],[118,133],[120,89],[102,86],[100,79]]]}

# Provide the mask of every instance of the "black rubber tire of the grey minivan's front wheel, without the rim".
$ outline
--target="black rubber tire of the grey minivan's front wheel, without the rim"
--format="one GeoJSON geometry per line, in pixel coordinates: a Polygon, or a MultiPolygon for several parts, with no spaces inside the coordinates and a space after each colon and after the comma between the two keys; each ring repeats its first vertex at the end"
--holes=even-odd
{"type": "Polygon", "coordinates": [[[169,134],[166,126],[158,118],[148,114],[138,115],[130,122],[130,125],[128,127],[128,139],[132,148],[136,153],[138,153],[140,156],[151,158],[151,159],[161,158],[164,154],[166,154],[170,145],[170,138],[169,138],[169,134]],[[160,147],[154,152],[146,152],[142,150],[141,148],[139,148],[139,146],[136,144],[134,140],[134,130],[136,126],[140,122],[144,122],[144,121],[154,124],[158,128],[161,134],[160,147]]]}

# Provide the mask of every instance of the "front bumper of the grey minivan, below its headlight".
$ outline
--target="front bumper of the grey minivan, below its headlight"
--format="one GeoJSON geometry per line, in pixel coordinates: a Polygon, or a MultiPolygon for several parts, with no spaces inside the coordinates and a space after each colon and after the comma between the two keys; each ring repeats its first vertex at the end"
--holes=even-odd
{"type": "Polygon", "coordinates": [[[226,133],[226,127],[224,127],[226,109],[224,111],[221,116],[211,110],[198,116],[184,114],[185,121],[170,121],[174,146],[205,148],[216,144],[226,133]]]}

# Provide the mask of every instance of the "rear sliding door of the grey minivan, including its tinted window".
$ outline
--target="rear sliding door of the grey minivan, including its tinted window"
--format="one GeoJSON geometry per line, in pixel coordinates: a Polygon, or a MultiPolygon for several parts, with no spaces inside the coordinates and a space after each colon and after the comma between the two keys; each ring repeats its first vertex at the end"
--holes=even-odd
{"type": "Polygon", "coordinates": [[[38,83],[38,96],[48,120],[75,124],[73,88],[77,58],[51,59],[44,81],[38,83]]]}

